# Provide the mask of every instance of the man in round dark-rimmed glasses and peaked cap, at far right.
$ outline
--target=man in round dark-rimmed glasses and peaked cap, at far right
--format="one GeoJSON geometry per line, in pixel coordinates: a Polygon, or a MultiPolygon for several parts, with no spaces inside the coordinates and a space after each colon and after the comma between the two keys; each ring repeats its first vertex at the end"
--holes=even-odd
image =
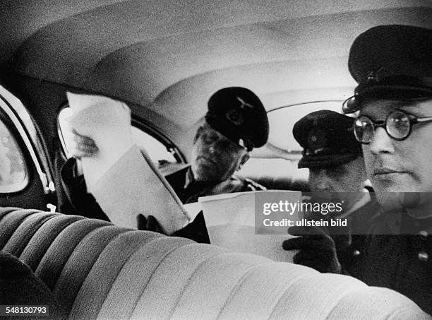
{"type": "Polygon", "coordinates": [[[344,111],[359,112],[354,134],[383,206],[357,278],[432,314],[432,30],[371,28],[354,41],[349,71],[358,86],[344,111]]]}

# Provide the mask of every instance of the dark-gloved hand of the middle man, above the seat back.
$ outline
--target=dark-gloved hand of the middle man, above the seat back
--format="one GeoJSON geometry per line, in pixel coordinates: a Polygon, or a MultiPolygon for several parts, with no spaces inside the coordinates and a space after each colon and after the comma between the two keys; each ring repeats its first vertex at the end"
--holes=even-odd
{"type": "MultiPolygon", "coordinates": [[[[290,227],[290,235],[298,235],[282,243],[284,250],[299,249],[293,262],[314,268],[322,273],[341,273],[333,239],[318,227],[290,227]]],[[[349,235],[347,235],[349,237],[349,235]]]]}

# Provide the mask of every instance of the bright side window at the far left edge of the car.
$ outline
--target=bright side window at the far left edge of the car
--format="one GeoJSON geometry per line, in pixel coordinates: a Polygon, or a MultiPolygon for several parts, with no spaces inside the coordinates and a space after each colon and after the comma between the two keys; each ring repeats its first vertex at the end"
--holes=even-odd
{"type": "Polygon", "coordinates": [[[0,193],[21,191],[28,182],[23,153],[6,124],[0,121],[0,193]]]}

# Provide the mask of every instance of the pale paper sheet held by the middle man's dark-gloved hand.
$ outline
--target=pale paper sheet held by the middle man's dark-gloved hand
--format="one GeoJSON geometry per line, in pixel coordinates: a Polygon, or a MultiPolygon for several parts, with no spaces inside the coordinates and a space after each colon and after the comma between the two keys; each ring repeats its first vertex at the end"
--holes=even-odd
{"type": "MultiPolygon", "coordinates": [[[[256,235],[253,191],[198,198],[203,208],[210,242],[238,252],[258,254],[275,261],[292,262],[296,250],[285,251],[282,242],[292,235],[256,235]]],[[[293,194],[301,200],[301,193],[293,194]]]]}

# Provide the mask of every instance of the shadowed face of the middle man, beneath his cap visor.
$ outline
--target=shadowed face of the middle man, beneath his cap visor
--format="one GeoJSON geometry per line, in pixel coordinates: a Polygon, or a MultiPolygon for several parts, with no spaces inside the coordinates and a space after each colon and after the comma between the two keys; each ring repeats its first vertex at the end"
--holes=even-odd
{"type": "Polygon", "coordinates": [[[311,191],[319,192],[320,195],[317,196],[323,198],[343,200],[346,208],[350,208],[361,198],[365,180],[366,173],[361,156],[333,167],[309,168],[308,183],[311,191]],[[344,194],[333,194],[335,192],[344,194]]]}

